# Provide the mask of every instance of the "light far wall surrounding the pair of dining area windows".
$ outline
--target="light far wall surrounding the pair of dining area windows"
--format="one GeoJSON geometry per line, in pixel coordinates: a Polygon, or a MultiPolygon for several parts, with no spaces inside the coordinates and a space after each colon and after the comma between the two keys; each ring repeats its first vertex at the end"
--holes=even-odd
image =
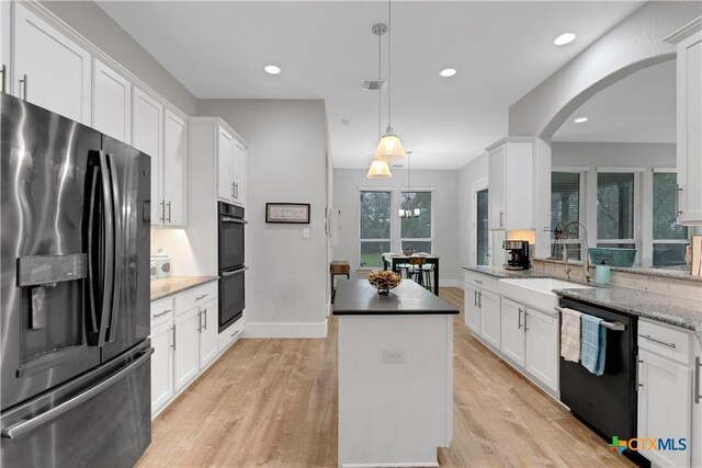
{"type": "MultiPolygon", "coordinates": [[[[348,260],[351,269],[359,267],[359,186],[363,187],[407,187],[407,171],[393,170],[393,178],[386,180],[367,179],[366,169],[335,169],[333,170],[333,202],[335,209],[341,210],[342,230],[339,244],[332,247],[335,260],[348,260]]],[[[412,170],[412,187],[435,187],[433,199],[433,244],[432,252],[441,256],[440,286],[453,286],[462,277],[460,263],[456,259],[458,241],[458,217],[456,201],[456,171],[412,170]]],[[[395,195],[395,194],[394,194],[395,195]]],[[[399,224],[394,213],[393,225],[394,250],[399,249],[399,224]],[[395,227],[397,226],[397,229],[395,227]]]]}

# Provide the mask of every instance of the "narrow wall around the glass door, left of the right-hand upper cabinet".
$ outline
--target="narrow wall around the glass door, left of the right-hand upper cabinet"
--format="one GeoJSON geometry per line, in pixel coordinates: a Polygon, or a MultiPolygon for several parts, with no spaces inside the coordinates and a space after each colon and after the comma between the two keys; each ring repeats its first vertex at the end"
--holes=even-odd
{"type": "MultiPolygon", "coordinates": [[[[458,266],[472,264],[473,238],[473,184],[487,178],[487,153],[479,156],[457,171],[457,205],[458,205],[458,246],[456,259],[458,266]]],[[[463,276],[461,276],[463,278],[463,276]]]]}

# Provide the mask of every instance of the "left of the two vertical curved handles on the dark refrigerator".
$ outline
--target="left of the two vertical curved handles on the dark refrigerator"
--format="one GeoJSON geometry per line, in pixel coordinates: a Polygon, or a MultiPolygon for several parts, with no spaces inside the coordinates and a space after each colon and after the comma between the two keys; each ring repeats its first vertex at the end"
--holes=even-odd
{"type": "Polygon", "coordinates": [[[102,214],[104,230],[104,250],[102,252],[102,267],[104,273],[102,287],[102,312],[100,330],[98,331],[98,346],[105,344],[107,320],[112,306],[112,293],[114,287],[114,214],[112,203],[112,189],[110,172],[107,170],[107,155],[105,151],[95,151],[100,168],[100,182],[102,187],[102,214]]]}

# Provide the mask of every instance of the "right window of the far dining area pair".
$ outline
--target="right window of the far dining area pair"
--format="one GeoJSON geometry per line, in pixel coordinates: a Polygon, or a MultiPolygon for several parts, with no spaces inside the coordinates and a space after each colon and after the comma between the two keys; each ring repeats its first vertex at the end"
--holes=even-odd
{"type": "Polygon", "coordinates": [[[400,206],[419,208],[418,218],[400,218],[399,236],[403,249],[431,253],[431,192],[401,192],[400,206]]]}

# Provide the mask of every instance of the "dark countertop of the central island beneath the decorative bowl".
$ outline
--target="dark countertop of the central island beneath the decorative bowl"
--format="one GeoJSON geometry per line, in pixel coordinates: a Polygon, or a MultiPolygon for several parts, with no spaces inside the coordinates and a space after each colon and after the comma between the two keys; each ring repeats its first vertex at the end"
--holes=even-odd
{"type": "Polygon", "coordinates": [[[366,279],[341,279],[335,316],[456,315],[458,309],[417,283],[405,279],[389,295],[377,294],[366,279]]]}

